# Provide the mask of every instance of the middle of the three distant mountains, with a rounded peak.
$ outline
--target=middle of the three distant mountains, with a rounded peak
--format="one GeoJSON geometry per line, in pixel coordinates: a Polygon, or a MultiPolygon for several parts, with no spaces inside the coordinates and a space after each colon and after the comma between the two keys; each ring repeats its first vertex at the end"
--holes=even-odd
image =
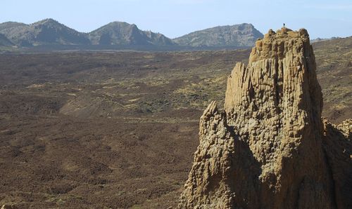
{"type": "Polygon", "coordinates": [[[111,22],[89,33],[94,45],[174,45],[171,39],[163,34],[142,31],[137,25],[127,22],[111,22]]]}

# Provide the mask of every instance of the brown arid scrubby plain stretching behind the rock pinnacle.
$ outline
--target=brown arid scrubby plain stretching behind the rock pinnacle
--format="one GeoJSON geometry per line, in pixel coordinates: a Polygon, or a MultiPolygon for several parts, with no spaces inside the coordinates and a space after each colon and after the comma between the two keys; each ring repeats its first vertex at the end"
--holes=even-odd
{"type": "MultiPolygon", "coordinates": [[[[352,38],[314,43],[323,116],[352,117],[352,38]]],[[[168,208],[250,50],[0,55],[0,205],[168,208]]]]}

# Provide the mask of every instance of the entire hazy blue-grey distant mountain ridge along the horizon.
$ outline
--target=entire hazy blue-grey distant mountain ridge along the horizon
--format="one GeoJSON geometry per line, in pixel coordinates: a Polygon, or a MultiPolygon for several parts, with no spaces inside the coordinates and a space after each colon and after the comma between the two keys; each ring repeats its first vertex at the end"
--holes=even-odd
{"type": "Polygon", "coordinates": [[[153,47],[163,49],[247,47],[253,46],[263,34],[251,24],[220,26],[169,39],[160,33],[144,31],[127,22],[110,22],[89,33],[77,32],[51,18],[24,24],[4,22],[0,24],[0,46],[75,48],[153,47]]]}

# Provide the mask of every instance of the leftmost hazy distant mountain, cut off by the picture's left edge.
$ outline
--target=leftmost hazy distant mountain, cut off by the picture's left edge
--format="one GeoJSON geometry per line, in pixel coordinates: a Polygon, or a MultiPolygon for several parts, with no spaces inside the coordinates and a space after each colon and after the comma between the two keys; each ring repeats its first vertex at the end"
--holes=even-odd
{"type": "Polygon", "coordinates": [[[4,22],[0,25],[0,33],[18,46],[84,45],[90,43],[87,35],[53,19],[41,20],[30,25],[19,22],[4,22]]]}

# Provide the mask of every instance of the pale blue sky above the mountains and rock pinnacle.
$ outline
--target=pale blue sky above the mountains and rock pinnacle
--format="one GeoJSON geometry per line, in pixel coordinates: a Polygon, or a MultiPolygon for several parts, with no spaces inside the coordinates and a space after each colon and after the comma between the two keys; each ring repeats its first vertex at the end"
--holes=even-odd
{"type": "Polygon", "coordinates": [[[265,34],[283,23],[310,39],[352,36],[352,0],[0,0],[0,22],[46,18],[91,32],[113,21],[170,38],[218,25],[251,23],[265,34]]]}

